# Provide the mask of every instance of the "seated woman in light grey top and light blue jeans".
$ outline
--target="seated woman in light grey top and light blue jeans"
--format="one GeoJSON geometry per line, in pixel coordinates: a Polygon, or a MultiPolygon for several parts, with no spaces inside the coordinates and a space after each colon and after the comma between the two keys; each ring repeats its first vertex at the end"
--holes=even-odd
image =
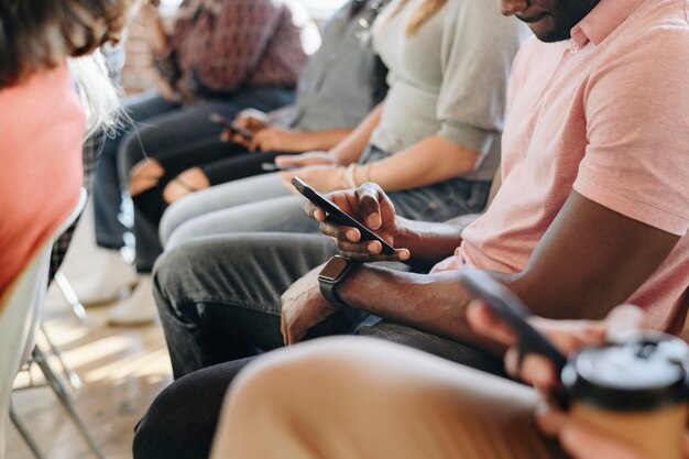
{"type": "Polygon", "coordinates": [[[481,211],[500,162],[510,68],[527,35],[488,3],[392,1],[372,31],[390,69],[384,101],[329,152],[276,160],[296,171],[175,203],[163,219],[163,239],[175,247],[217,233],[316,232],[293,195],[294,175],[321,192],[376,182],[400,215],[419,220],[481,211]]]}

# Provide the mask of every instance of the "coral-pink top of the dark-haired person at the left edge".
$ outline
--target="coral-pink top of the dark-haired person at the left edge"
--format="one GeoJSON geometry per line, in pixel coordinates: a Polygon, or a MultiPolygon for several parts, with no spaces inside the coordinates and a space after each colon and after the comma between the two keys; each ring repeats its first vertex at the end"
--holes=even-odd
{"type": "Polygon", "coordinates": [[[79,199],[85,125],[65,65],[0,90],[0,295],[79,199]]]}

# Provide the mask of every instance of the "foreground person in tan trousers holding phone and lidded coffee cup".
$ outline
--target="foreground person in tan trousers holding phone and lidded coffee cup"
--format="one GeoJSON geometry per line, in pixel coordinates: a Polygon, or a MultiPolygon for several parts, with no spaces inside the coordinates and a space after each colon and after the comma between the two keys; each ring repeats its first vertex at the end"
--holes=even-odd
{"type": "MultiPolygon", "coordinates": [[[[472,304],[468,317],[477,331],[515,343],[485,306],[472,304]]],[[[642,319],[624,306],[604,321],[535,324],[572,353],[642,319]]],[[[527,354],[518,365],[517,353],[512,348],[505,358],[511,375],[547,394],[557,382],[550,362],[527,354]]],[[[322,339],[259,359],[240,373],[211,458],[661,459],[546,408],[543,398],[522,384],[380,340],[322,339]]],[[[653,435],[657,426],[646,428],[653,435]]]]}

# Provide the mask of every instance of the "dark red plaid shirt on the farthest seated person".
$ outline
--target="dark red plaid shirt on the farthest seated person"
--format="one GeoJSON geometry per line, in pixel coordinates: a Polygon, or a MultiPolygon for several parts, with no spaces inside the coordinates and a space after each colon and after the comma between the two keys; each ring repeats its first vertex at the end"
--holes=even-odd
{"type": "Polygon", "coordinates": [[[184,94],[297,84],[306,53],[289,8],[275,0],[186,1],[154,64],[184,94]]]}

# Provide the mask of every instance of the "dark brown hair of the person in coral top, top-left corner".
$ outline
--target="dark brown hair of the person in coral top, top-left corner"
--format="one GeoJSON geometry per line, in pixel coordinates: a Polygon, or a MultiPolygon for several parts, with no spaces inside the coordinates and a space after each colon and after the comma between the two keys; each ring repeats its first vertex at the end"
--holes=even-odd
{"type": "Polygon", "coordinates": [[[0,88],[117,43],[138,0],[0,0],[0,88]]]}

